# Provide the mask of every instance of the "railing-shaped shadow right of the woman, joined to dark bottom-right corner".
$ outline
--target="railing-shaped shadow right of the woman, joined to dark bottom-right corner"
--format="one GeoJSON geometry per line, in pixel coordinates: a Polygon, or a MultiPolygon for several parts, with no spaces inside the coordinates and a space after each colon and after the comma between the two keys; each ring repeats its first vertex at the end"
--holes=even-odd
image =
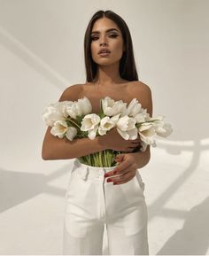
{"type": "Polygon", "coordinates": [[[157,255],[204,255],[208,250],[209,229],[206,227],[208,226],[209,198],[205,198],[203,203],[193,207],[189,213],[163,207],[174,194],[175,190],[183,186],[183,183],[186,182],[190,175],[197,169],[201,152],[205,150],[208,151],[208,144],[202,145],[199,140],[194,140],[193,142],[193,146],[178,147],[176,145],[166,145],[165,147],[171,154],[180,154],[181,151],[192,151],[193,157],[190,162],[190,167],[185,169],[182,175],[148,208],[149,220],[156,215],[185,220],[182,229],[178,230],[167,240],[166,244],[159,250],[157,255]]]}

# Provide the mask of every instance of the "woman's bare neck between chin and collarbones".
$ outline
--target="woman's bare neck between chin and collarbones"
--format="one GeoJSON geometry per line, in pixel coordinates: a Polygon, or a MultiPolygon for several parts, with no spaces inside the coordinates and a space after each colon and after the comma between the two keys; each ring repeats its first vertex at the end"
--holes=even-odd
{"type": "Polygon", "coordinates": [[[98,66],[94,81],[99,86],[109,86],[123,81],[120,77],[119,63],[114,63],[111,66],[98,66]]]}

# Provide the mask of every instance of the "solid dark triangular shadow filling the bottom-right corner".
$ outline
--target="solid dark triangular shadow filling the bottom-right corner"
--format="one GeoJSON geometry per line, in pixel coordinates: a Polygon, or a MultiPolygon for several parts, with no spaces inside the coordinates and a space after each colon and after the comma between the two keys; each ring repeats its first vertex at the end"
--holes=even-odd
{"type": "Polygon", "coordinates": [[[209,244],[208,216],[209,198],[205,198],[187,213],[182,229],[168,239],[157,255],[205,255],[209,244]]]}

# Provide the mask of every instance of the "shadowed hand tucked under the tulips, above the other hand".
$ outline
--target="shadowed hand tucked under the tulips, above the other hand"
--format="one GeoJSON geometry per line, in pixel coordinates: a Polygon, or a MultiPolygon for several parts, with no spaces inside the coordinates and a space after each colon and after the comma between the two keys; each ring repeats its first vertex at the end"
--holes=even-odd
{"type": "Polygon", "coordinates": [[[102,144],[104,144],[105,149],[111,149],[113,151],[133,151],[135,147],[141,144],[140,136],[135,140],[125,140],[120,136],[117,128],[112,128],[109,130],[105,136],[100,136],[102,144]]]}

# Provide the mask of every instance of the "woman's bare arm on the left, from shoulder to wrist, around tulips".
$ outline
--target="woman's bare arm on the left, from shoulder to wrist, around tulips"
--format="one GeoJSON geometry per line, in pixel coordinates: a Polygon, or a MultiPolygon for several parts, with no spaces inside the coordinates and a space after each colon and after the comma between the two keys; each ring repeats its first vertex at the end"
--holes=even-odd
{"type": "MultiPolygon", "coordinates": [[[[78,85],[71,86],[63,92],[59,101],[78,100],[79,89],[78,85]]],[[[52,136],[50,129],[50,127],[47,128],[43,139],[42,158],[44,160],[74,159],[104,150],[104,138],[102,137],[96,137],[94,140],[89,138],[74,139],[71,142],[52,136]]]]}

